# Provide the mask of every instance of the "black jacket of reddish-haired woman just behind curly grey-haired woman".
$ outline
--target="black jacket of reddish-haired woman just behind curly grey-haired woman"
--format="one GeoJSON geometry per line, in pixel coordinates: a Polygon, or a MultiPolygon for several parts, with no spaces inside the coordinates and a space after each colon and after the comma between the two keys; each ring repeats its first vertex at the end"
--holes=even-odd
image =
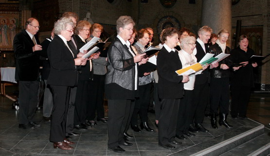
{"type": "MultiPolygon", "coordinates": [[[[73,38],[77,43],[77,49],[80,49],[86,44],[85,42],[82,41],[82,39],[78,35],[75,35],[73,38]]],[[[92,71],[90,71],[90,61],[87,61],[85,65],[81,65],[79,69],[80,72],[78,80],[87,81],[93,79],[93,68],[92,71]]]]}

